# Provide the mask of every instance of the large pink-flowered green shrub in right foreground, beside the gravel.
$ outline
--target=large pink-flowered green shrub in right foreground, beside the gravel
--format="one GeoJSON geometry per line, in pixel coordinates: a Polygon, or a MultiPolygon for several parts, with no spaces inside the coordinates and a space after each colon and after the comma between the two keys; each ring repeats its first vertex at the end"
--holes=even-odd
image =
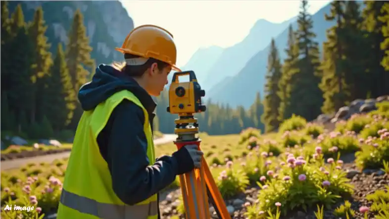
{"type": "Polygon", "coordinates": [[[283,215],[294,209],[306,211],[318,204],[328,208],[341,195],[352,193],[346,173],[335,163],[327,169],[323,164],[322,154],[315,160],[288,154],[287,162],[280,163],[283,167],[271,173],[277,177],[268,179],[265,185],[258,183],[262,188],[258,193],[259,211],[269,210],[273,214],[278,202],[283,206],[283,215]]]}

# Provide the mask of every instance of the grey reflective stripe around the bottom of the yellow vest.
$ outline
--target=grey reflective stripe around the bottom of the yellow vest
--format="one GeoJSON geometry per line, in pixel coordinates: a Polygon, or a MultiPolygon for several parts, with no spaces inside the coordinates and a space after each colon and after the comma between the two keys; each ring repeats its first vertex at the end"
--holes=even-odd
{"type": "Polygon", "coordinates": [[[81,213],[101,219],[147,219],[158,214],[158,203],[152,201],[144,205],[115,205],[100,203],[62,189],[60,202],[62,205],[81,213]]]}

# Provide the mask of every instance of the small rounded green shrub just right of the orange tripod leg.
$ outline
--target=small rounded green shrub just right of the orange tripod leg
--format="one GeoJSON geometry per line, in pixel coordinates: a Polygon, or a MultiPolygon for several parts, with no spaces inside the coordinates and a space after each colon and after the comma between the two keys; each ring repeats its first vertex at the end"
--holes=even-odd
{"type": "Polygon", "coordinates": [[[232,168],[232,165],[232,161],[228,162],[227,169],[223,170],[216,180],[216,185],[224,198],[231,198],[244,192],[249,183],[247,175],[240,169],[232,168]]]}

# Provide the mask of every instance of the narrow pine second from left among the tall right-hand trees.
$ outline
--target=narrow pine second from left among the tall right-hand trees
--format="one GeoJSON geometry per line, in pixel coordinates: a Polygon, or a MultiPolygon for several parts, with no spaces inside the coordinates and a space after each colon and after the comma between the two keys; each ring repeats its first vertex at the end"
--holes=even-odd
{"type": "Polygon", "coordinates": [[[296,36],[295,32],[293,31],[292,24],[289,25],[289,31],[288,31],[288,47],[285,50],[287,54],[287,58],[284,60],[284,64],[282,66],[281,71],[281,80],[278,84],[279,93],[278,96],[280,97],[281,103],[280,107],[278,109],[279,111],[279,120],[283,121],[284,119],[287,119],[292,116],[292,112],[286,111],[289,109],[290,103],[289,99],[290,96],[290,81],[292,75],[296,74],[298,72],[298,68],[296,67],[297,59],[298,59],[298,45],[296,44],[296,36]]]}

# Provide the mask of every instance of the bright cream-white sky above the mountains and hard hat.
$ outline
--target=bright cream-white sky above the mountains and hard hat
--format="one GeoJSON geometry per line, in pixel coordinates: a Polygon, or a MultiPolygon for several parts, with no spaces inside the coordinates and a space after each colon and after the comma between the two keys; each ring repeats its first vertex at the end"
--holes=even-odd
{"type": "MultiPolygon", "coordinates": [[[[199,48],[231,47],[246,37],[259,19],[282,23],[297,16],[300,0],[120,0],[135,27],[154,24],[172,33],[177,66],[199,48]]],[[[313,14],[330,0],[308,0],[313,14]]]]}

